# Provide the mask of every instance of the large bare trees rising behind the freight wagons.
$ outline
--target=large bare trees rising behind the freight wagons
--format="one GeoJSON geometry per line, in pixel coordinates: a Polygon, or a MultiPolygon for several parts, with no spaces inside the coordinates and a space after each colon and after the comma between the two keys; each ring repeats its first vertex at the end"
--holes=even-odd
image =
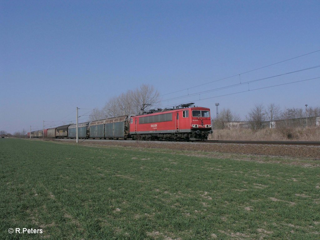
{"type": "Polygon", "coordinates": [[[137,115],[142,113],[143,110],[148,111],[151,108],[157,108],[159,104],[159,95],[159,92],[154,86],[142,84],[134,90],[128,90],[119,96],[110,98],[103,108],[95,108],[90,115],[90,121],[122,116],[125,114],[137,115]]]}

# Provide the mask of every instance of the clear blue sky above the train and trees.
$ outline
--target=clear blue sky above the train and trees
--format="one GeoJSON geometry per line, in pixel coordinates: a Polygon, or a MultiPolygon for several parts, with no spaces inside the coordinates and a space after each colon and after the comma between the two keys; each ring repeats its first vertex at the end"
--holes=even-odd
{"type": "MultiPolygon", "coordinates": [[[[0,1],[0,130],[75,120],[76,107],[101,108],[144,83],[161,95],[189,88],[163,100],[237,84],[205,83],[320,50],[319,12],[319,1],[0,1]]],[[[318,65],[315,52],[240,78],[318,65]]],[[[242,119],[260,103],[316,107],[320,79],[221,96],[315,77],[320,68],[161,106],[196,100],[214,113],[219,102],[242,119]]]]}

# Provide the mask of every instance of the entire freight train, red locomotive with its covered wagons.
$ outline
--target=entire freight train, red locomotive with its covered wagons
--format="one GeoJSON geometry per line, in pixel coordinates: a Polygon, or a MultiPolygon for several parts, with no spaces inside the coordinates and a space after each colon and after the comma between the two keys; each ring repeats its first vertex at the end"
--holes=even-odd
{"type": "MultiPolygon", "coordinates": [[[[79,139],[206,140],[212,133],[210,109],[181,104],[78,124],[79,139]]],[[[28,132],[31,138],[76,138],[76,124],[28,132]],[[44,136],[43,136],[44,134],[44,136]]]]}

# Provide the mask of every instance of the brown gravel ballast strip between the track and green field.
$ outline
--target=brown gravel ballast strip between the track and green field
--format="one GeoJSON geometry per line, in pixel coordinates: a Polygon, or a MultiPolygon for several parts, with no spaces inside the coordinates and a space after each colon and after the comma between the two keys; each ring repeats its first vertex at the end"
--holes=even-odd
{"type": "MultiPolygon", "coordinates": [[[[55,141],[76,142],[74,139],[55,139],[55,141]]],[[[291,156],[320,159],[319,146],[303,145],[262,145],[262,144],[221,144],[199,142],[133,141],[80,139],[80,145],[125,146],[139,148],[165,148],[190,151],[240,153],[265,156],[291,156]]]]}

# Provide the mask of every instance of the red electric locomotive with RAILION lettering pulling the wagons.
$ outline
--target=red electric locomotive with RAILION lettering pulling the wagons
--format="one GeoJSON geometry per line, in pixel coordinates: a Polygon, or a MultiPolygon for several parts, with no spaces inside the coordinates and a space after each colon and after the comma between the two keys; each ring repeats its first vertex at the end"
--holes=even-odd
{"type": "Polygon", "coordinates": [[[130,136],[141,140],[205,140],[212,133],[210,109],[191,107],[150,110],[130,118],[130,136]]]}

